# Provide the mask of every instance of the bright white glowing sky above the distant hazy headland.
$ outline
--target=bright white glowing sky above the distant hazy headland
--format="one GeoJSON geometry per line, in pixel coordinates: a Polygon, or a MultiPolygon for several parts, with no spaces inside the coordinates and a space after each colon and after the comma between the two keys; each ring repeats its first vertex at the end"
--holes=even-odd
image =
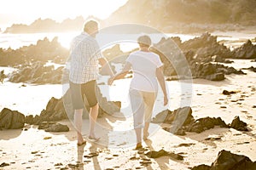
{"type": "Polygon", "coordinates": [[[38,18],[61,22],[67,18],[94,15],[106,19],[128,0],[1,0],[0,27],[31,24],[38,18]]]}

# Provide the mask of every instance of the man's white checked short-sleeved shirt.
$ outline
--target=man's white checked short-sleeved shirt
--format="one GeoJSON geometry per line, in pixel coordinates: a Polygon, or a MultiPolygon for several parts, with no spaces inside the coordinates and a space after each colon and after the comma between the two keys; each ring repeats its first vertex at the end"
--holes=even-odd
{"type": "Polygon", "coordinates": [[[98,59],[103,58],[103,55],[94,37],[85,32],[74,37],[70,57],[71,82],[83,84],[99,77],[98,59]]]}

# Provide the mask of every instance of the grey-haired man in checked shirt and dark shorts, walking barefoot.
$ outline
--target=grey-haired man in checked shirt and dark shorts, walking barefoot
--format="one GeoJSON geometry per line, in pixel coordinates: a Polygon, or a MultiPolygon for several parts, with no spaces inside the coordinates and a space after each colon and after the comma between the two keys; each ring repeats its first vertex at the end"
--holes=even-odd
{"type": "Polygon", "coordinates": [[[99,45],[96,42],[98,23],[89,20],[84,24],[84,31],[74,37],[71,45],[71,66],[69,74],[69,85],[72,94],[74,109],[74,124],[78,135],[78,144],[85,144],[82,136],[82,115],[84,110],[84,97],[90,106],[90,131],[88,139],[97,141],[98,137],[94,132],[98,116],[98,102],[96,99],[96,79],[98,78],[98,63],[107,65],[108,74],[113,77],[107,60],[102,56],[99,45]]]}

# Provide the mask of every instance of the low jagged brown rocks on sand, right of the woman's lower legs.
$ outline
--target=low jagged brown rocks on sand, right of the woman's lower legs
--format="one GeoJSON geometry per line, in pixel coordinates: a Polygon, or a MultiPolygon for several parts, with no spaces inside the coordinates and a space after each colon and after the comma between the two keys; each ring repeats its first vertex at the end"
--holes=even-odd
{"type": "Polygon", "coordinates": [[[247,123],[241,122],[239,116],[236,116],[229,125],[220,117],[207,116],[195,120],[190,107],[179,108],[175,111],[161,111],[154,117],[152,122],[170,124],[170,127],[164,127],[164,129],[177,135],[185,135],[185,132],[201,133],[215,126],[232,127],[239,131],[248,131],[247,123]]]}

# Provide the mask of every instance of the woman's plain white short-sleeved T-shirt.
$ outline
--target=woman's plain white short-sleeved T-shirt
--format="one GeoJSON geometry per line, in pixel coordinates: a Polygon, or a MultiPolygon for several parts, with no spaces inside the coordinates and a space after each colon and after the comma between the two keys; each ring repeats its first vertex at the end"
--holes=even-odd
{"type": "Polygon", "coordinates": [[[131,53],[126,61],[131,63],[134,75],[131,80],[131,88],[145,92],[155,93],[158,91],[155,71],[163,65],[158,54],[136,51],[131,53]]]}

